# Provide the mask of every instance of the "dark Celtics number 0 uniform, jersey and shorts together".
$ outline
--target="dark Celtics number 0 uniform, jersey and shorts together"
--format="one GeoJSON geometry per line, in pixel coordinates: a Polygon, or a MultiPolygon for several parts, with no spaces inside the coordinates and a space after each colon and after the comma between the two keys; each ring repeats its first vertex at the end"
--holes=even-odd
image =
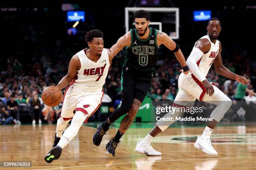
{"type": "MultiPolygon", "coordinates": [[[[144,100],[151,86],[153,70],[158,57],[158,46],[156,43],[157,30],[148,28],[149,36],[141,40],[136,29],[131,29],[131,45],[126,47],[125,63],[122,71],[122,92],[134,93],[133,98],[144,100]],[[136,94],[136,90],[143,93],[136,94]]],[[[141,101],[141,102],[142,102],[141,101]]]]}

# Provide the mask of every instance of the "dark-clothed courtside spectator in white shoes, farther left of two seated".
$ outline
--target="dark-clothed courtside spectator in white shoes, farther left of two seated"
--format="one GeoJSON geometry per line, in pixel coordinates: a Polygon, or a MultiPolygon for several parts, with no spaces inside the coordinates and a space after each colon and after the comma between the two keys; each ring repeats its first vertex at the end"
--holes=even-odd
{"type": "Polygon", "coordinates": [[[14,94],[10,96],[10,100],[7,101],[7,110],[11,117],[13,117],[13,122],[16,124],[21,124],[20,122],[20,112],[18,110],[18,103],[14,99],[14,94]]]}

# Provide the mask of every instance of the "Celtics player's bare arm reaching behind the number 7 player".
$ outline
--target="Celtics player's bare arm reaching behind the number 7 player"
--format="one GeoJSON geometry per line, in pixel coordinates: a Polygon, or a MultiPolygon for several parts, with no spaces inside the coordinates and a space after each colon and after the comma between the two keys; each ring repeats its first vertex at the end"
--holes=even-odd
{"type": "Polygon", "coordinates": [[[110,48],[108,49],[108,56],[109,60],[112,60],[115,55],[120,52],[123,47],[130,46],[131,45],[131,32],[127,32],[125,35],[120,37],[118,41],[110,48]]]}

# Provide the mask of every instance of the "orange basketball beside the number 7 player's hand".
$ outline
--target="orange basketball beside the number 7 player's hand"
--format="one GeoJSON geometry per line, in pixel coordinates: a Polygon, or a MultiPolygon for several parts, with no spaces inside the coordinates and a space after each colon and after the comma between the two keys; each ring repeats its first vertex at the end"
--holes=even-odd
{"type": "Polygon", "coordinates": [[[55,86],[49,86],[42,92],[42,100],[45,105],[55,107],[62,101],[62,92],[55,86]]]}

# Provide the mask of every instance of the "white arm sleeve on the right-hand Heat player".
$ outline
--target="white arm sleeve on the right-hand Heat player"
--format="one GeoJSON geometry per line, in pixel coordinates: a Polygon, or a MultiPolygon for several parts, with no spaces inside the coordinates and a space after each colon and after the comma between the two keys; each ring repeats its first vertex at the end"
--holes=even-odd
{"type": "Polygon", "coordinates": [[[201,50],[199,50],[198,48],[193,48],[192,52],[187,58],[187,66],[200,82],[206,80],[205,76],[202,75],[202,72],[199,70],[199,67],[197,66],[197,61],[200,60],[202,55],[204,55],[204,53],[201,50]]]}

